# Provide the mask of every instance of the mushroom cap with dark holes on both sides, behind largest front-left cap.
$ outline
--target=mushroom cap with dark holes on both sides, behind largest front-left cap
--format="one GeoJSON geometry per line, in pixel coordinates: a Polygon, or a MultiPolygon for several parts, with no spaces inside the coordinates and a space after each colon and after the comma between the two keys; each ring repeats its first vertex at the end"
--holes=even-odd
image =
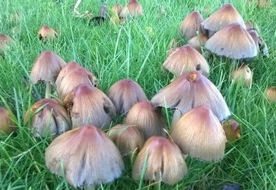
{"type": "Polygon", "coordinates": [[[73,128],[95,125],[106,129],[116,114],[116,108],[108,96],[91,85],[78,85],[63,103],[70,111],[73,128]]]}

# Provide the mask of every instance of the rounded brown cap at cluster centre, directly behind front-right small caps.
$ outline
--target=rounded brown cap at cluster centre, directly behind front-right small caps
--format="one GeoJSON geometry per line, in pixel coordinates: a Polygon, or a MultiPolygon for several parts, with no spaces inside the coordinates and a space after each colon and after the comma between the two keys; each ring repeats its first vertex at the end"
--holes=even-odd
{"type": "Polygon", "coordinates": [[[141,101],[132,106],[125,118],[126,124],[135,124],[144,139],[150,136],[165,136],[166,123],[160,109],[153,107],[150,101],[141,101]]]}

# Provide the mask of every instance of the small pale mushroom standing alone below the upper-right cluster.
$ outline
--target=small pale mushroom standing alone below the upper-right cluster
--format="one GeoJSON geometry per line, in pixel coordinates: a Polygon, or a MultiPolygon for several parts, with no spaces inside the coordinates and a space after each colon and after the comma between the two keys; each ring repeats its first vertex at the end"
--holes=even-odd
{"type": "Polygon", "coordinates": [[[253,76],[253,74],[252,74],[250,68],[247,65],[242,65],[242,67],[239,67],[236,70],[233,70],[230,78],[235,83],[242,83],[244,85],[247,85],[248,87],[251,87],[252,76],[253,76]]]}

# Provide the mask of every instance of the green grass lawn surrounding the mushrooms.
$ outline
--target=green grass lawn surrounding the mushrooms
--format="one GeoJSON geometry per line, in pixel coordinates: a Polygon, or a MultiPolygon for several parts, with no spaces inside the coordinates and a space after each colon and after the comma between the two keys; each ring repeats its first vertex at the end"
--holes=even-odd
{"type": "MultiPolygon", "coordinates": [[[[264,96],[266,87],[276,85],[276,1],[264,9],[244,0],[227,2],[233,3],[245,21],[253,19],[259,25],[270,51],[269,58],[259,56],[248,63],[253,70],[251,89],[228,81],[233,69],[230,61],[208,59],[209,78],[226,98],[233,118],[242,125],[242,138],[228,145],[221,162],[206,163],[186,158],[189,171],[184,180],[175,186],[161,184],[161,189],[221,189],[224,184],[234,182],[242,184],[242,189],[276,189],[276,104],[264,96]]],[[[166,59],[169,41],[179,36],[179,23],[193,10],[206,18],[221,6],[219,0],[141,0],[144,17],[123,26],[108,23],[90,26],[86,20],[72,17],[74,3],[73,0],[0,1],[0,32],[12,36],[17,42],[5,59],[0,58],[0,95],[17,116],[19,125],[16,133],[0,137],[0,189],[72,188],[44,165],[44,151],[51,139],[32,138],[30,130],[22,124],[26,109],[35,101],[22,78],[27,76],[26,71],[31,70],[40,52],[52,50],[66,62],[77,61],[97,76],[103,92],[121,78],[133,78],[148,98],[152,98],[172,79],[170,74],[161,72],[160,67],[166,59]],[[161,6],[164,6],[166,16],[159,16],[161,6]],[[17,11],[22,16],[21,30],[12,34],[8,19],[17,11]],[[60,36],[55,43],[42,43],[37,38],[37,31],[43,24],[59,30],[60,36]],[[147,33],[148,26],[153,28],[155,36],[147,33]]],[[[125,4],[126,1],[108,1],[110,6],[115,3],[125,4]]],[[[99,0],[83,0],[79,11],[98,14],[100,5],[99,0]]],[[[41,96],[44,96],[43,88],[38,85],[41,96]]],[[[4,105],[4,101],[0,104],[4,105]]],[[[127,161],[121,178],[99,188],[138,187],[139,182],[131,178],[130,162],[127,161]]],[[[150,182],[142,185],[143,189],[152,187],[150,182]]]]}

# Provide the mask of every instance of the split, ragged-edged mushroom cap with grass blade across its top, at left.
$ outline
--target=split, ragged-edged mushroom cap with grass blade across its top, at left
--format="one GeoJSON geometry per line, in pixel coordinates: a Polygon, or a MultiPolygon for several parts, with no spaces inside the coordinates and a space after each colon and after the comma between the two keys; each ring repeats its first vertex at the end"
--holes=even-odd
{"type": "Polygon", "coordinates": [[[35,137],[61,134],[70,129],[66,109],[55,99],[42,99],[34,103],[24,116],[24,123],[32,127],[35,137]]]}

